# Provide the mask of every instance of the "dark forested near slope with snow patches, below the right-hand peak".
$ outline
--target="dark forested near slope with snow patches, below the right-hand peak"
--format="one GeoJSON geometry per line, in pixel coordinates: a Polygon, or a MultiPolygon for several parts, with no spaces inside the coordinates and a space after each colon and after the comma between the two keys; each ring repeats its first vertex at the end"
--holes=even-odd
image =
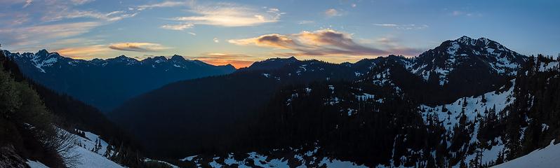
{"type": "MultiPolygon", "coordinates": [[[[260,140],[267,145],[271,144],[270,141],[279,143],[267,146],[274,150],[263,152],[270,158],[290,155],[289,152],[274,152],[281,146],[297,148],[314,144],[315,148],[320,148],[321,154],[309,157],[328,155],[368,167],[498,165],[544,148],[560,136],[557,122],[560,103],[557,99],[558,61],[542,56],[529,57],[527,64],[522,64],[518,70],[514,80],[491,92],[436,106],[415,102],[391,104],[395,97],[387,97],[390,92],[379,88],[384,85],[368,84],[367,78],[353,83],[326,82],[288,87],[282,91],[284,94],[276,94],[277,100],[272,101],[276,105],[271,108],[274,110],[262,114],[262,123],[255,127],[265,129],[256,137],[266,137],[260,140]],[[409,107],[415,105],[418,109],[409,107]],[[399,109],[410,109],[410,112],[385,116],[387,111],[394,115],[399,109]],[[421,123],[414,120],[399,122],[402,117],[418,114],[423,118],[421,123]],[[417,125],[410,127],[413,123],[417,125]],[[380,132],[382,136],[375,136],[380,132]],[[388,137],[388,140],[373,140],[371,136],[388,137]],[[372,141],[375,143],[371,144],[372,141]],[[416,146],[415,143],[422,145],[416,146]],[[387,151],[383,151],[387,148],[384,146],[389,146],[387,151]]],[[[399,90],[394,92],[398,95],[399,90]]],[[[407,97],[406,91],[401,97],[407,97]]],[[[549,153],[547,151],[545,153],[549,153]]],[[[529,154],[527,158],[535,156],[551,157],[529,154]]],[[[199,158],[204,160],[204,156],[199,158]]],[[[309,158],[305,160],[316,163],[309,158]]],[[[528,162],[535,166],[550,162],[521,160],[524,160],[519,162],[521,165],[528,162]]]]}

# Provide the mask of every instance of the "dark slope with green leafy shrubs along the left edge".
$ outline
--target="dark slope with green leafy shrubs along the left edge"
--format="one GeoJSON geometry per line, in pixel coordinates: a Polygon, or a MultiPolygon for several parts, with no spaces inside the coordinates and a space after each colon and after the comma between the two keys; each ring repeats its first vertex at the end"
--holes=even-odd
{"type": "Polygon", "coordinates": [[[5,71],[5,57],[0,55],[0,146],[15,146],[23,158],[41,160],[50,167],[64,167],[58,154],[60,144],[53,127],[53,115],[46,110],[39,95],[25,81],[5,71]],[[4,138],[7,137],[7,138],[4,138]]]}

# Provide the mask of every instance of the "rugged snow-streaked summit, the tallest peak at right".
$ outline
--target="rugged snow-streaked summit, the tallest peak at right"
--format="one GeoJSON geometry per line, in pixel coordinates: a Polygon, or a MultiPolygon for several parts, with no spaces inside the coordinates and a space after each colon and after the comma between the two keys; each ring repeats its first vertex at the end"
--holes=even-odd
{"type": "Polygon", "coordinates": [[[488,69],[490,73],[514,76],[519,64],[525,59],[524,55],[519,55],[488,38],[474,39],[462,36],[422,53],[413,59],[414,62],[407,68],[425,80],[434,74],[439,79],[439,85],[445,85],[448,83],[449,73],[465,66],[481,66],[479,69],[488,69]]]}

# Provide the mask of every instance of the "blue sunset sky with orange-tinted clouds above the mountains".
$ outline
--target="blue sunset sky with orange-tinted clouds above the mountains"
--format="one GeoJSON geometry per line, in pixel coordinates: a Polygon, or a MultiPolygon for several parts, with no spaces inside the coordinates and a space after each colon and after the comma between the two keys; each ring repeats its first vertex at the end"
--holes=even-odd
{"type": "Polygon", "coordinates": [[[558,55],[559,9],[555,0],[0,0],[0,43],[75,59],[182,55],[236,68],[271,57],[413,57],[461,36],[558,55]]]}

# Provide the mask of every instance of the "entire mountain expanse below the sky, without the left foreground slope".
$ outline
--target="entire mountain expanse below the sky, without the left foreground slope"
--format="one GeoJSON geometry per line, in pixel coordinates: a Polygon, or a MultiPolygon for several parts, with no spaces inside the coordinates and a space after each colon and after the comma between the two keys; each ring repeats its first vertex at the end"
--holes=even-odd
{"type": "MultiPolygon", "coordinates": [[[[236,70],[180,56],[84,61],[46,50],[4,53],[37,83],[94,105],[93,96],[165,78],[127,91],[121,102],[98,103],[111,122],[101,118],[109,126],[95,131],[166,166],[510,167],[554,152],[560,139],[560,60],[521,55],[488,38],[462,36],[417,57],[271,58],[236,70]],[[204,75],[183,80],[194,72],[204,75]],[[116,86],[92,86],[100,81],[116,86]],[[120,129],[121,137],[114,134],[120,129]]],[[[88,109],[57,105],[62,98],[36,87],[48,109],[88,109]]],[[[81,129],[101,127],[66,113],[81,129]]],[[[84,113],[98,118],[93,109],[84,113]]],[[[109,148],[107,141],[100,146],[109,148]]],[[[139,165],[127,156],[124,165],[139,165]]]]}

